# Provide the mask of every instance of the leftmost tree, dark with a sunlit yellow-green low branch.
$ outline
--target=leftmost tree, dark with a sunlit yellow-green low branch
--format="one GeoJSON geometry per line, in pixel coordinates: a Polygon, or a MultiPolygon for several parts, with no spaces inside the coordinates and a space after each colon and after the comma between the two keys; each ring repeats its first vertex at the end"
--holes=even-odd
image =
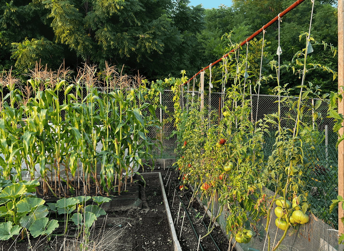
{"type": "Polygon", "coordinates": [[[62,47],[49,40],[53,32],[37,18],[45,14],[37,1],[0,1],[0,70],[15,65],[27,73],[40,60],[50,68],[61,64],[62,47]]]}

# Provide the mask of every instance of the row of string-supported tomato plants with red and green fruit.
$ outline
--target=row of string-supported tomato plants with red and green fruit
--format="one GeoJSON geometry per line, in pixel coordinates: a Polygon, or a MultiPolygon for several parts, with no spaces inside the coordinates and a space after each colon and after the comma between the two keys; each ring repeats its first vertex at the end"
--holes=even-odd
{"type": "MultiPolygon", "coordinates": [[[[318,109],[319,102],[322,102],[325,96],[320,97],[318,87],[313,90],[311,83],[309,87],[302,83],[298,87],[301,88],[300,95],[295,99],[290,96],[290,90],[286,86],[282,87],[277,82],[278,86],[272,91],[278,96],[284,96],[279,100],[278,112],[265,115],[254,122],[251,118],[250,97],[245,91],[245,88],[248,88],[244,78],[245,64],[237,61],[237,69],[232,64],[225,64],[226,60],[238,60],[237,56],[240,55],[235,55],[236,53],[223,59],[223,69],[230,72],[225,74],[225,80],[232,81],[232,85],[226,88],[223,119],[217,120],[217,112],[210,109],[209,112],[196,109],[199,108],[198,101],[192,104],[191,110],[190,107],[187,111],[181,109],[181,96],[187,95],[187,88],[175,85],[174,100],[175,107],[178,108],[175,118],[179,122],[176,124],[176,134],[178,142],[184,142],[184,145],[179,143],[176,150],[179,156],[182,156],[177,164],[182,172],[190,174],[189,181],[184,179],[183,184],[195,187],[194,194],[198,193],[199,189],[202,191],[201,199],[208,201],[207,207],[216,218],[226,209],[228,213],[225,228],[227,233],[231,233],[231,238],[240,243],[249,241],[253,232],[245,230],[245,227],[249,224],[254,226],[259,220],[258,217],[262,216],[267,219],[265,231],[268,250],[271,250],[270,243],[276,243],[276,246],[272,247],[272,250],[276,250],[290,226],[306,222],[306,211],[310,205],[307,202],[308,192],[303,176],[307,173],[310,156],[305,153],[304,144],[314,142],[311,137],[312,128],[303,123],[302,118],[304,111],[318,109]],[[310,106],[308,96],[316,96],[321,101],[317,101],[316,106],[310,106]],[[281,106],[295,112],[296,116],[284,116],[281,106]],[[287,124],[292,124],[292,127],[288,128],[285,126],[287,124]],[[276,139],[270,156],[264,156],[262,150],[267,136],[276,139]],[[275,195],[266,195],[263,186],[274,190],[275,195]],[[218,212],[213,210],[215,199],[218,212]],[[268,231],[275,204],[275,214],[278,216],[275,224],[284,233],[279,241],[272,242],[268,231]],[[297,209],[301,209],[300,212],[297,209]]],[[[301,55],[302,52],[295,58],[301,55]]],[[[279,70],[275,60],[270,62],[270,66],[271,69],[279,70]]],[[[282,67],[287,70],[290,68],[282,67]]],[[[268,79],[279,81],[273,76],[264,78],[268,79]]],[[[333,104],[334,100],[335,98],[333,104]]],[[[316,116],[321,115],[319,114],[316,112],[316,116]]],[[[209,224],[208,233],[212,229],[209,224]]]]}

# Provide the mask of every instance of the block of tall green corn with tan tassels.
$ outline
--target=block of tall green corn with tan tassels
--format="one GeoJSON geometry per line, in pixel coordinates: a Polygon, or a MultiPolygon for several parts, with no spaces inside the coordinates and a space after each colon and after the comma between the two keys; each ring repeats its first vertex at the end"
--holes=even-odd
{"type": "Polygon", "coordinates": [[[41,179],[43,194],[51,191],[58,197],[74,191],[76,175],[78,187],[82,177],[85,194],[91,180],[96,193],[120,193],[122,185],[126,190],[131,167],[141,165],[154,145],[148,129],[160,128],[157,106],[146,103],[147,88],[135,79],[118,76],[111,67],[103,79],[97,71],[85,66],[71,81],[67,70],[54,73],[37,66],[22,91],[11,75],[1,75],[2,97],[4,89],[9,92],[0,119],[4,177],[20,181],[27,171],[32,180],[41,179]]]}

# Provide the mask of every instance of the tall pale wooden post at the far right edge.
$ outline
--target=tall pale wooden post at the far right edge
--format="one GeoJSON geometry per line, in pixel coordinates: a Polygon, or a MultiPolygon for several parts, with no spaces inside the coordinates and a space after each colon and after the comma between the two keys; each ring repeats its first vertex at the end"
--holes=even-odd
{"type": "MultiPolygon", "coordinates": [[[[338,90],[342,90],[342,86],[344,85],[344,47],[343,47],[343,20],[344,20],[344,12],[343,12],[343,0],[338,0],[338,90]]],[[[344,114],[344,101],[338,101],[338,113],[344,114]]],[[[339,130],[340,135],[343,135],[342,127],[339,130]]],[[[344,197],[344,141],[342,141],[338,146],[338,195],[344,197]]],[[[342,203],[340,203],[338,208],[338,230],[339,234],[344,233],[344,226],[341,221],[341,218],[344,216],[342,203]]]]}

